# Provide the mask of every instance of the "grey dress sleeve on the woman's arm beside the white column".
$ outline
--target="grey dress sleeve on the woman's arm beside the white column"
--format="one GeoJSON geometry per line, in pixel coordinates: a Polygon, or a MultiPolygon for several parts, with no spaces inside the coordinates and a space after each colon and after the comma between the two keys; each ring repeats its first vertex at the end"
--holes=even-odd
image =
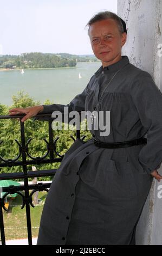
{"type": "Polygon", "coordinates": [[[162,94],[151,75],[142,71],[131,85],[131,95],[147,131],[147,144],[140,150],[138,160],[150,174],[162,162],[162,94]]]}

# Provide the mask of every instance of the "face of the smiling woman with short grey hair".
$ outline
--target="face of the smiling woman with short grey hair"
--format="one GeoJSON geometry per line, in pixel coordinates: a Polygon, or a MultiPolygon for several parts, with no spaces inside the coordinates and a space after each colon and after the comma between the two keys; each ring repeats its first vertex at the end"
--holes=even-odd
{"type": "Polygon", "coordinates": [[[121,59],[121,48],[126,42],[127,34],[119,32],[113,19],[96,21],[90,25],[89,38],[92,50],[103,66],[109,66],[121,59]]]}

